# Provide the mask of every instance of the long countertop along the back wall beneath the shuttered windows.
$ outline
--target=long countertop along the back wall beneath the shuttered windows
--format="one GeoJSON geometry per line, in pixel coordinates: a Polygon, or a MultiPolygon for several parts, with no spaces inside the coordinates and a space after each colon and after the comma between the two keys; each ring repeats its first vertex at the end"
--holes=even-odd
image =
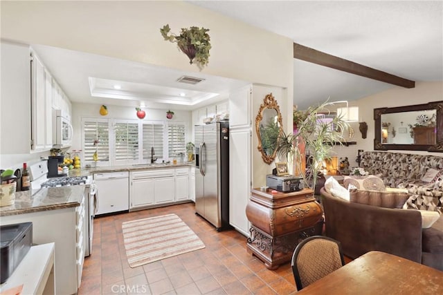
{"type": "Polygon", "coordinates": [[[69,170],[69,176],[88,176],[93,173],[106,173],[106,172],[121,172],[121,171],[137,171],[148,169],[164,169],[164,168],[176,168],[180,166],[194,166],[195,162],[177,162],[172,163],[154,163],[154,164],[127,164],[119,166],[101,166],[83,169],[71,169],[69,170]]]}

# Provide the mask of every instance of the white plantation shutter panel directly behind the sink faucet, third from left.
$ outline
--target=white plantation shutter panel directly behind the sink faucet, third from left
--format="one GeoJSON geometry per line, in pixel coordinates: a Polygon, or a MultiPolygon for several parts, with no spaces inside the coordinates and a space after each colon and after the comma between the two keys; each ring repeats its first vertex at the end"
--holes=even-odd
{"type": "Polygon", "coordinates": [[[143,123],[143,160],[151,159],[154,147],[154,158],[163,159],[163,122],[143,123]]]}

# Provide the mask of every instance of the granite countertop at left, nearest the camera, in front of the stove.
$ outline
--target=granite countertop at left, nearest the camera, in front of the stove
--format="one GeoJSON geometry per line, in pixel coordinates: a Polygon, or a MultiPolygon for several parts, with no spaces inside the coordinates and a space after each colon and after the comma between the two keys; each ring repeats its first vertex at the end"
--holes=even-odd
{"type": "Polygon", "coordinates": [[[84,185],[17,191],[14,204],[0,207],[0,217],[77,207],[83,196],[84,185]]]}

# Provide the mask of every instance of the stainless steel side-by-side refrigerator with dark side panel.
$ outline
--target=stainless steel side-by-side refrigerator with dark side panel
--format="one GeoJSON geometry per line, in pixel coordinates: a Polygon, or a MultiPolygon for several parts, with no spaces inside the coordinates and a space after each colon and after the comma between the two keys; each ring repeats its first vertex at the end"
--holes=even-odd
{"type": "Polygon", "coordinates": [[[229,122],[195,126],[195,211],[217,231],[229,225],[229,122]]]}

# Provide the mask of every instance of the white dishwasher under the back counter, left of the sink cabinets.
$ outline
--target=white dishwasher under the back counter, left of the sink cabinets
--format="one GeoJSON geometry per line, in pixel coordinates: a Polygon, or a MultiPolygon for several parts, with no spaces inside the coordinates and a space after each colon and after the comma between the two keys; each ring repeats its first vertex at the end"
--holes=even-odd
{"type": "Polygon", "coordinates": [[[129,210],[129,172],[95,173],[96,216],[129,210]]]}

